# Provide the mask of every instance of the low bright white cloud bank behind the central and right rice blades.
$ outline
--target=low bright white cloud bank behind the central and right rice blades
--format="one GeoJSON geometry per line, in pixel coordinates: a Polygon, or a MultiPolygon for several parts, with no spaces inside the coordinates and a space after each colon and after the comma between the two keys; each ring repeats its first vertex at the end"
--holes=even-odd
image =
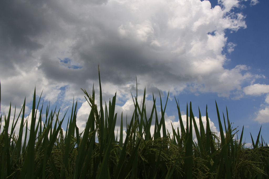
{"type": "MultiPolygon", "coordinates": [[[[142,100],[142,96],[138,96],[138,103],[141,103],[142,100]]],[[[95,100],[96,104],[99,104],[97,100],[95,100]]],[[[153,101],[149,100],[146,96],[145,99],[145,105],[146,105],[146,114],[147,114],[147,119],[149,119],[151,111],[152,111],[152,107],[153,107],[153,101]]],[[[98,106],[98,105],[97,105],[98,106]]],[[[103,105],[103,108],[105,106],[103,105]]],[[[161,119],[161,112],[160,112],[160,106],[156,106],[157,108],[157,117],[160,120],[161,119]]],[[[77,127],[79,128],[79,131],[83,131],[85,126],[86,126],[86,122],[90,113],[90,106],[88,104],[88,102],[84,102],[82,104],[82,106],[79,108],[78,112],[77,112],[77,127]]],[[[98,108],[98,111],[100,109],[98,108]]],[[[126,103],[122,106],[120,105],[116,105],[115,106],[115,113],[117,113],[117,121],[116,121],[116,127],[114,130],[114,134],[115,137],[118,136],[118,138],[120,137],[120,125],[121,125],[121,113],[123,114],[123,141],[125,140],[126,137],[126,125],[130,123],[130,120],[132,118],[134,112],[134,102],[132,98],[129,98],[126,103]]],[[[186,129],[187,126],[187,115],[183,114],[181,115],[181,118],[183,120],[183,126],[186,129]]],[[[164,115],[164,119],[165,119],[165,127],[166,127],[166,131],[168,131],[168,133],[170,133],[170,135],[173,135],[173,131],[172,131],[172,126],[174,127],[174,129],[177,130],[177,128],[179,128],[179,132],[181,132],[181,128],[180,128],[180,122],[179,122],[179,118],[178,116],[175,115],[171,115],[168,116],[167,113],[165,113],[164,115]]],[[[199,126],[199,118],[198,117],[194,117],[196,124],[199,126]]],[[[206,129],[206,116],[201,116],[202,119],[202,125],[204,126],[204,129],[206,129]]],[[[189,120],[189,119],[188,119],[189,120]]],[[[159,121],[160,122],[160,121],[159,121]]],[[[217,136],[220,135],[220,132],[218,131],[217,127],[215,126],[214,122],[211,121],[211,119],[209,118],[209,126],[210,126],[210,130],[211,132],[216,133],[217,136]]],[[[154,128],[155,128],[155,112],[153,115],[153,120],[151,123],[151,127],[150,127],[150,132],[151,135],[154,134],[154,128]]],[[[200,128],[199,128],[200,129],[200,128]]],[[[197,138],[196,138],[196,133],[195,133],[195,129],[194,126],[192,125],[192,131],[193,131],[193,140],[197,142],[197,138]]],[[[162,134],[161,134],[162,136],[162,134]]]]}

